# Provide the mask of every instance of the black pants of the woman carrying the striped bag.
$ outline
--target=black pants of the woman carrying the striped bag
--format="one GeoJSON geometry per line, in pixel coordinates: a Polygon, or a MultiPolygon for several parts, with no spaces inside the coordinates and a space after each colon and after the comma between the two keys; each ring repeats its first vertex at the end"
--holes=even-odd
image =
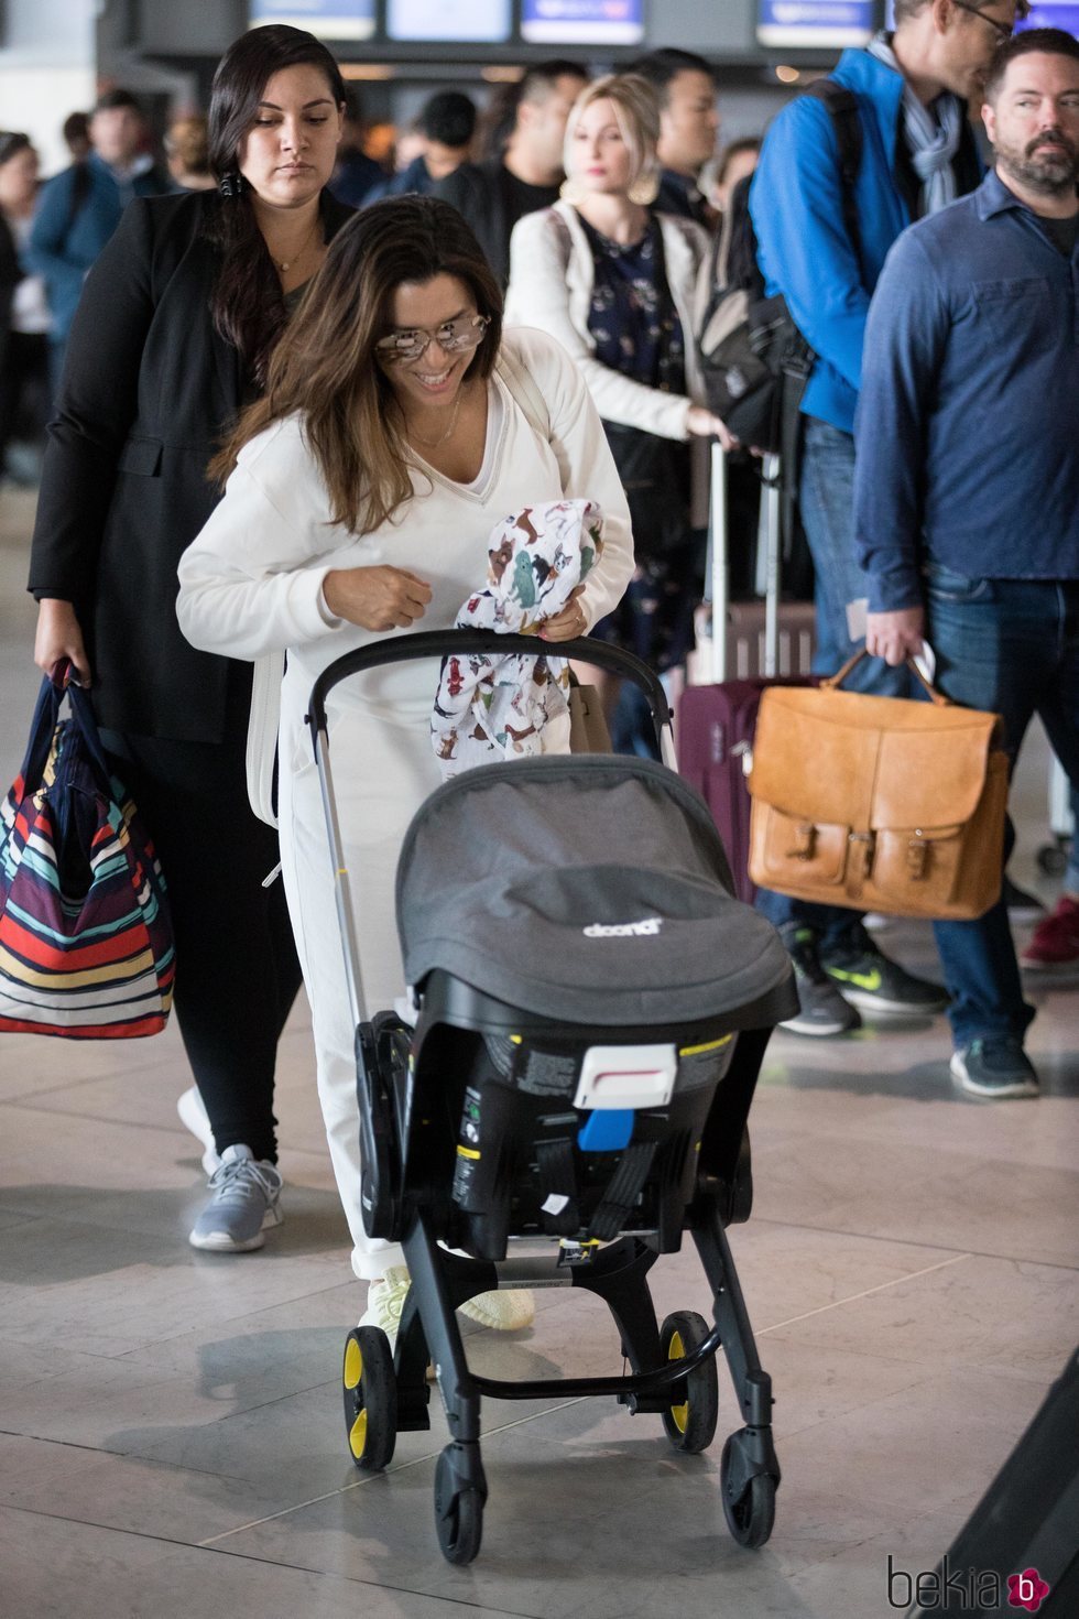
{"type": "Polygon", "coordinates": [[[278,861],[277,832],[248,803],[241,696],[230,693],[222,743],[112,730],[102,740],[165,873],[176,1018],[217,1149],[244,1141],[275,1161],[277,1043],[301,973],[285,886],[262,887],[278,861]]]}

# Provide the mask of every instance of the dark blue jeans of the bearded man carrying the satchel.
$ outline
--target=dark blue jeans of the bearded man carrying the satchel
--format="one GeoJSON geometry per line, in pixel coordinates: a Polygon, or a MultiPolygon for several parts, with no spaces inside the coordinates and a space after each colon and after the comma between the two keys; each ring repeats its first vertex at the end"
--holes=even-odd
{"type": "MultiPolygon", "coordinates": [[[[1079,581],[979,580],[930,563],[925,606],[940,690],[1003,716],[1013,764],[1040,714],[1068,779],[1079,782],[1079,581]]],[[[1005,860],[1011,842],[1009,827],[1005,860]]],[[[977,921],[933,923],[933,934],[956,1044],[1022,1038],[1034,1009],[1022,999],[1005,902],[977,921]]]]}

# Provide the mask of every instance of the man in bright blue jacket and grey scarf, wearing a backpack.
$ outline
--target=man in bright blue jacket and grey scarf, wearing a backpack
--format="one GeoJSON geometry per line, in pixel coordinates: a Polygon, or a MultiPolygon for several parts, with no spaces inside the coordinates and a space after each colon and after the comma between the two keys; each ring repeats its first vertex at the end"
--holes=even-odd
{"type": "MultiPolygon", "coordinates": [[[[840,144],[812,97],[786,107],[765,136],[749,207],[767,291],[783,293],[815,353],[802,397],[799,512],[814,559],[817,657],[835,674],[864,635],[867,583],[854,547],[854,406],[869,300],[885,256],[916,219],[982,178],[966,99],[980,92],[993,50],[1022,0],[895,0],[895,32],[846,50],[831,74],[861,120],[854,181],[857,241],[844,225],[840,144]]],[[[904,695],[904,669],[864,662],[849,682],[904,695]]],[[[945,1002],[875,947],[857,911],[762,892],[798,976],[802,1035],[856,1028],[857,1007],[922,1013],[945,1002]]]]}

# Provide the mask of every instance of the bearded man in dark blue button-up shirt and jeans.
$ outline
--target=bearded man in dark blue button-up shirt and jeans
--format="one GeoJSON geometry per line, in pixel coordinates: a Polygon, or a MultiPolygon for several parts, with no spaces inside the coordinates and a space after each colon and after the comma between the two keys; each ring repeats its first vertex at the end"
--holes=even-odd
{"type": "MultiPolygon", "coordinates": [[[[1079,42],[1001,45],[984,107],[996,172],[895,244],[869,312],[854,518],[865,644],[937,656],[958,703],[1034,712],[1079,782],[1079,42]]],[[[1079,889],[1079,873],[1076,887],[1079,889]]],[[[956,1051],[980,1096],[1037,1094],[1003,902],[938,923],[956,1051]]]]}

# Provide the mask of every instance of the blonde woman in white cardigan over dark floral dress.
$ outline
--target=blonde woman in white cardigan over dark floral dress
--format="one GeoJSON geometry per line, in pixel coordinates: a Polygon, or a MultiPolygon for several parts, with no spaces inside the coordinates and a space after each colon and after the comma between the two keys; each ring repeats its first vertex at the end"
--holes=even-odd
{"type": "MultiPolygon", "coordinates": [[[[592,633],[668,669],[686,656],[704,567],[704,465],[691,440],[731,440],[702,403],[694,350],[709,238],[650,209],[658,130],[644,79],[610,74],[582,91],[561,199],[513,228],[506,324],[550,332],[576,361],[629,502],[636,573],[592,633]]],[[[616,686],[599,680],[611,711],[616,686]]]]}

